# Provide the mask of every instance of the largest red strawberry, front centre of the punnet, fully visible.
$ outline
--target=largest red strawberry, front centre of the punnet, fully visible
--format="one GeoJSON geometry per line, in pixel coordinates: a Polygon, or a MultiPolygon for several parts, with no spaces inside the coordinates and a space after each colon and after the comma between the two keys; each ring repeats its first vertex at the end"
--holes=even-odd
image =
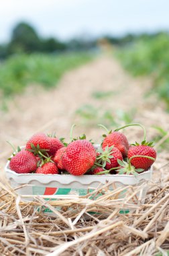
{"type": "Polygon", "coordinates": [[[96,160],[96,150],[86,139],[78,139],[68,144],[62,156],[65,170],[73,175],[82,175],[89,170],[96,160]]]}

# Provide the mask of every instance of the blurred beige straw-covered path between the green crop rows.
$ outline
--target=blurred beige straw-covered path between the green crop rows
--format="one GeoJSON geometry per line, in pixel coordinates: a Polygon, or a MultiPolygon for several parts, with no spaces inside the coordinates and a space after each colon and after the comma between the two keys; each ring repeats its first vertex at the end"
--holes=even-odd
{"type": "MultiPolygon", "coordinates": [[[[68,137],[75,122],[78,124],[75,135],[85,131],[87,137],[98,141],[102,131],[95,125],[84,127],[82,119],[75,115],[76,110],[85,104],[89,104],[89,108],[94,106],[98,116],[107,109],[112,115],[116,115],[119,109],[123,113],[131,113],[134,109],[135,121],[146,124],[150,131],[152,125],[159,125],[159,120],[160,126],[169,129],[169,117],[162,104],[154,96],[145,98],[150,88],[150,80],[133,79],[111,57],[100,57],[66,73],[53,90],[30,87],[22,96],[13,99],[8,113],[1,114],[1,165],[10,152],[6,140],[16,146],[23,145],[36,131],[56,131],[59,137],[68,137]],[[93,92],[97,91],[111,91],[111,96],[98,100],[93,97],[93,92]]],[[[139,136],[139,133],[135,135],[139,136]]],[[[129,136],[133,137],[133,133],[130,132],[129,136]]]]}

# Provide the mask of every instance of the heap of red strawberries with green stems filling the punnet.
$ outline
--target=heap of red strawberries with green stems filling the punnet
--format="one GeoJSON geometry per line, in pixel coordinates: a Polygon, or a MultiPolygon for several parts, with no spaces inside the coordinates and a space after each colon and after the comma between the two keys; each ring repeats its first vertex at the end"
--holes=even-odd
{"type": "MultiPolygon", "coordinates": [[[[139,125],[139,124],[133,124],[139,125]]],[[[102,125],[103,126],[103,125],[102,125]]],[[[131,125],[126,125],[128,127],[131,125]]],[[[142,125],[139,125],[144,129],[142,125]]],[[[129,145],[127,137],[119,130],[103,135],[96,146],[83,135],[65,143],[63,139],[44,133],[34,134],[25,148],[9,158],[9,168],[17,173],[36,174],[138,174],[150,169],[156,160],[152,142],[129,145]]]]}

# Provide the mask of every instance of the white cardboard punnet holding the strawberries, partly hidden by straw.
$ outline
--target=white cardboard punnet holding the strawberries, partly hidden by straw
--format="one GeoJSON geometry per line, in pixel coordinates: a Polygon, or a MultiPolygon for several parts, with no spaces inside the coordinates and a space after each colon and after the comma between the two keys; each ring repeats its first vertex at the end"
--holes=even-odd
{"type": "MultiPolygon", "coordinates": [[[[34,200],[37,196],[52,200],[65,197],[72,199],[74,197],[80,198],[87,194],[89,194],[89,199],[95,200],[105,193],[103,189],[105,186],[110,191],[121,189],[118,197],[118,199],[121,199],[131,186],[143,186],[141,197],[139,193],[135,194],[135,209],[140,202],[144,203],[148,191],[147,183],[152,179],[152,168],[137,174],[137,176],[127,174],[103,174],[99,176],[87,174],[81,176],[73,176],[71,174],[17,174],[9,169],[9,162],[5,166],[5,173],[11,187],[26,200],[34,200]],[[98,193],[99,187],[101,188],[100,193],[98,193]]],[[[133,207],[131,209],[121,208],[120,213],[128,214],[135,209],[133,207]]],[[[61,208],[57,206],[56,210],[61,210],[61,208]]],[[[40,211],[51,216],[54,215],[48,207],[40,208],[40,211]]]]}

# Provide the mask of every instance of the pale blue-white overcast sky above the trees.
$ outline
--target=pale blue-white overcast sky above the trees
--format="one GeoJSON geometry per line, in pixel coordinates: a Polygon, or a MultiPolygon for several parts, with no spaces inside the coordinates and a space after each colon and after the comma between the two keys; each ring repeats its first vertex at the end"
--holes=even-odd
{"type": "Polygon", "coordinates": [[[0,42],[20,21],[61,39],[169,30],[168,10],[169,0],[0,0],[0,42]]]}

